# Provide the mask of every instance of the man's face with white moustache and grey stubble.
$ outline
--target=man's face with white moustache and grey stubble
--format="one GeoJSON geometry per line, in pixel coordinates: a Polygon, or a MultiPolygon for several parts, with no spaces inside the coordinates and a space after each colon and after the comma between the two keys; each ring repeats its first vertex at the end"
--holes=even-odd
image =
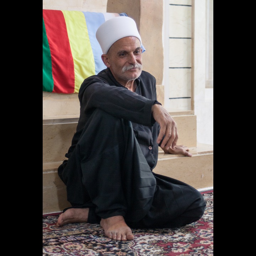
{"type": "Polygon", "coordinates": [[[138,78],[142,72],[142,48],[137,37],[124,37],[108,50],[108,67],[120,83],[138,78]]]}

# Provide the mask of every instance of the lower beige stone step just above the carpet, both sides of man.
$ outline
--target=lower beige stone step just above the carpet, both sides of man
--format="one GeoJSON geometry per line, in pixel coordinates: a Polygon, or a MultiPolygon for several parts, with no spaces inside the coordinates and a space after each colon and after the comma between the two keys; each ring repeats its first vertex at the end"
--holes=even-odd
{"type": "MultiPolygon", "coordinates": [[[[213,146],[198,144],[190,148],[192,157],[159,152],[155,173],[181,180],[201,190],[213,187],[213,146]]],[[[61,212],[70,204],[66,201],[66,187],[57,168],[62,161],[43,163],[43,214],[61,212]]]]}

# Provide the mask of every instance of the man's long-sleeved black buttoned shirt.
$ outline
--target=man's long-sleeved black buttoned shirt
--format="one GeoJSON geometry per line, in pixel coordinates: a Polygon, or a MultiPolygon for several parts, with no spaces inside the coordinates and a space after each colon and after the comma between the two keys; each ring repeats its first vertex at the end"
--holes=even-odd
{"type": "Polygon", "coordinates": [[[156,166],[158,159],[156,140],[160,127],[151,114],[153,104],[160,104],[156,100],[156,79],[148,72],[142,71],[135,82],[137,87],[135,92],[132,92],[114,79],[109,68],[86,78],[82,82],[78,94],[80,118],[72,139],[72,145],[65,155],[67,158],[70,157],[78,143],[91,113],[96,108],[100,108],[117,118],[132,122],[135,137],[150,168],[153,169],[156,166]]]}

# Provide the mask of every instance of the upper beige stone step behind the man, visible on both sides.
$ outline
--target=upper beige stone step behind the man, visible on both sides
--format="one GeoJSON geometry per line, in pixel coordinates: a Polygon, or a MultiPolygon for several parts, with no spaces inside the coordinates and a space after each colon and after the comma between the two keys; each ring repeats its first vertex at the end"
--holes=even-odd
{"type": "MultiPolygon", "coordinates": [[[[194,111],[169,110],[178,126],[178,144],[189,148],[197,145],[194,111]]],[[[63,161],[76,131],[79,116],[43,118],[43,163],[63,161]]]]}

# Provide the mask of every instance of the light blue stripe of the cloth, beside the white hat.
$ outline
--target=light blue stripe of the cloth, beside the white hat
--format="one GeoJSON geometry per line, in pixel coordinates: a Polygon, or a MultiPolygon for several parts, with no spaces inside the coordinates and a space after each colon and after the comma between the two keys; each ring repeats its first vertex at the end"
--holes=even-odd
{"type": "Polygon", "coordinates": [[[106,66],[101,59],[102,50],[100,44],[96,39],[96,31],[98,27],[105,22],[105,17],[101,12],[83,12],[86,20],[89,39],[92,47],[92,54],[94,55],[95,75],[106,66]]]}

